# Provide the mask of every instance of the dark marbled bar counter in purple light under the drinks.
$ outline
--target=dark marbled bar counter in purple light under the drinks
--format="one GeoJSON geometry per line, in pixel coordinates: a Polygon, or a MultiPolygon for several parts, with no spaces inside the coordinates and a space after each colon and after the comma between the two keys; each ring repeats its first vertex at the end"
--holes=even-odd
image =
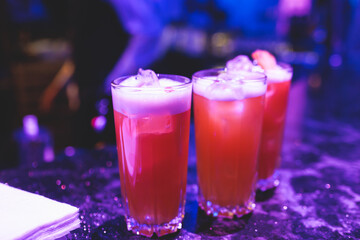
{"type": "MultiPolygon", "coordinates": [[[[206,216],[196,200],[192,124],[183,229],[162,239],[360,238],[359,74],[294,72],[278,188],[258,192],[243,218],[206,216]]],[[[30,170],[2,170],[0,182],[79,207],[81,227],[65,239],[145,239],[126,230],[116,158],[115,146],[75,149],[30,170]]]]}

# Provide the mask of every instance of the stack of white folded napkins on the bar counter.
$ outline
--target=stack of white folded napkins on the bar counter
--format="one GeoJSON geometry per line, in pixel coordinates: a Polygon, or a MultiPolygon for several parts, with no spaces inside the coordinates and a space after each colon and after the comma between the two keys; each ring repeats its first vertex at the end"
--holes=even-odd
{"type": "Polygon", "coordinates": [[[79,209],[0,183],[0,239],[56,239],[80,226],[79,209]]]}

